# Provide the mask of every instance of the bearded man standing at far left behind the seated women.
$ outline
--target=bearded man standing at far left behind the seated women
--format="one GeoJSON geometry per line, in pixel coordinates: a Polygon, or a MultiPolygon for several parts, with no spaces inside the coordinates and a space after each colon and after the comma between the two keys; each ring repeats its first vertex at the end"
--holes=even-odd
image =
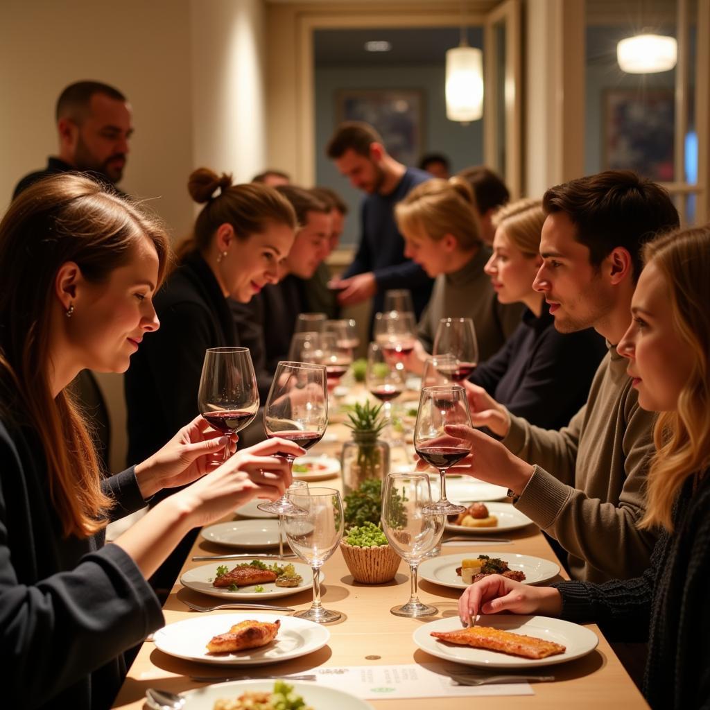
{"type": "Polygon", "coordinates": [[[57,101],[59,155],[52,155],[43,170],[26,175],[15,187],[13,199],[49,175],[71,170],[87,173],[107,190],[123,177],[129,138],[133,133],[131,107],[118,89],[101,82],[76,82],[57,101]]]}

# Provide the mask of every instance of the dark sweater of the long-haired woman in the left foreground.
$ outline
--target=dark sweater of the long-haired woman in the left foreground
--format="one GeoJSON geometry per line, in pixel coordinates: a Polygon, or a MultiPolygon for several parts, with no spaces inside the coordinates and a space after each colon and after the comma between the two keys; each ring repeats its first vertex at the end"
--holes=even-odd
{"type": "MultiPolygon", "coordinates": [[[[117,518],[145,503],[133,469],[104,481],[117,518]]],[[[133,559],[103,535],[62,535],[38,437],[0,422],[0,667],[6,708],[103,710],[122,652],[163,626],[133,559]]]]}

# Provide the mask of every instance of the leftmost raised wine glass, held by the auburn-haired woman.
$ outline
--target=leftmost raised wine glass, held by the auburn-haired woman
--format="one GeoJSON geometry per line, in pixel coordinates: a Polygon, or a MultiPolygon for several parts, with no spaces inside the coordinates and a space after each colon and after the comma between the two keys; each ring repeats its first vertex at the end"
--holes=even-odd
{"type": "MultiPolygon", "coordinates": [[[[259,408],[259,392],[249,348],[208,348],[204,352],[197,406],[209,425],[230,439],[251,423],[259,408]]],[[[224,447],[224,461],[230,450],[231,446],[224,447]]]]}

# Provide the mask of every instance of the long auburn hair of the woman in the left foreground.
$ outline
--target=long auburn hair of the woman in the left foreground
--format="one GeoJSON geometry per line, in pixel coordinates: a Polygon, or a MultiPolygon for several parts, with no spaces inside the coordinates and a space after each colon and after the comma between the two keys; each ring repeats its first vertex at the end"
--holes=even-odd
{"type": "Polygon", "coordinates": [[[87,537],[104,527],[112,501],[102,493],[80,407],[66,390],[56,397],[51,390],[55,280],[62,264],[73,261],[90,283],[103,283],[129,263],[142,239],[158,253],[160,282],[170,257],[162,224],[76,173],[31,185],[0,222],[0,408],[11,422],[36,432],[66,536],[87,537]]]}

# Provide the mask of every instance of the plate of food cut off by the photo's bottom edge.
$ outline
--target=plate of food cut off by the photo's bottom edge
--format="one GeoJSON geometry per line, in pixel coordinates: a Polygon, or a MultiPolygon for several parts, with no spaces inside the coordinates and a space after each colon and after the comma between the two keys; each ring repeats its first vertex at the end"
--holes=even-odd
{"type": "Polygon", "coordinates": [[[219,683],[189,690],[182,693],[182,697],[185,698],[183,710],[248,710],[256,707],[255,701],[265,702],[258,705],[262,710],[295,706],[287,705],[285,697],[292,703],[295,697],[302,698],[305,705],[301,710],[372,710],[371,704],[344,690],[288,679],[219,683]],[[271,701],[265,700],[263,694],[270,694],[271,701]]]}

